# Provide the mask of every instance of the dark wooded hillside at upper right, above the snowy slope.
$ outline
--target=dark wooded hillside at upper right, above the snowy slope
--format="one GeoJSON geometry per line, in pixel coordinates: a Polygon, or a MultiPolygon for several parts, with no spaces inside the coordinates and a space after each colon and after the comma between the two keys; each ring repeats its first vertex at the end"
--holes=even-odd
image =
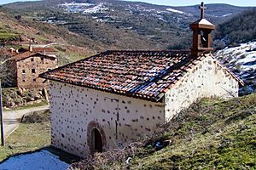
{"type": "Polygon", "coordinates": [[[251,8],[218,25],[214,39],[217,48],[256,39],[256,8],[251,8]]]}

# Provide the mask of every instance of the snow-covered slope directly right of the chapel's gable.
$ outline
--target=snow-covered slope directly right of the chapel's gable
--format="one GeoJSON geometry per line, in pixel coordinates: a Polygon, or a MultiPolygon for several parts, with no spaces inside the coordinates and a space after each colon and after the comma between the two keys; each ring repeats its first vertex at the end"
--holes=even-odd
{"type": "Polygon", "coordinates": [[[256,42],[224,48],[215,56],[245,82],[245,86],[240,89],[241,94],[256,92],[256,42]]]}

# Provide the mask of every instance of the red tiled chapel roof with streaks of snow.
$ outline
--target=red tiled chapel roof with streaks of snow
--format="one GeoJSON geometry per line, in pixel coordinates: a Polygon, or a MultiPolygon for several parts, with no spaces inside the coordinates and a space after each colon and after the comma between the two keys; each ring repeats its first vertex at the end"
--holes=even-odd
{"type": "Polygon", "coordinates": [[[40,77],[159,101],[205,57],[192,57],[189,51],[107,51],[47,71],[40,77]]]}

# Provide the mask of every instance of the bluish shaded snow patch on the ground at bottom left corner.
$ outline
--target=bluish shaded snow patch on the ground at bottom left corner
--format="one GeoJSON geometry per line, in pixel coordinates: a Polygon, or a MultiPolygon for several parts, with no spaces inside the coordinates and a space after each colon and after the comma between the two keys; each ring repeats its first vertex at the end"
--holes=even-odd
{"type": "Polygon", "coordinates": [[[4,170],[64,170],[69,165],[58,159],[47,150],[40,150],[31,154],[22,154],[20,156],[10,157],[7,161],[0,164],[0,169],[4,170]]]}

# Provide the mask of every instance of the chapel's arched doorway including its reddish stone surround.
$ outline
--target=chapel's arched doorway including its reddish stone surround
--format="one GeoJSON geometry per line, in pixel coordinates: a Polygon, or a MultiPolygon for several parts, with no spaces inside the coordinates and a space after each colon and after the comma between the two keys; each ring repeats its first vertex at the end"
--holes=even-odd
{"type": "Polygon", "coordinates": [[[90,122],[87,127],[87,144],[90,154],[106,150],[106,135],[98,122],[90,122]]]}

